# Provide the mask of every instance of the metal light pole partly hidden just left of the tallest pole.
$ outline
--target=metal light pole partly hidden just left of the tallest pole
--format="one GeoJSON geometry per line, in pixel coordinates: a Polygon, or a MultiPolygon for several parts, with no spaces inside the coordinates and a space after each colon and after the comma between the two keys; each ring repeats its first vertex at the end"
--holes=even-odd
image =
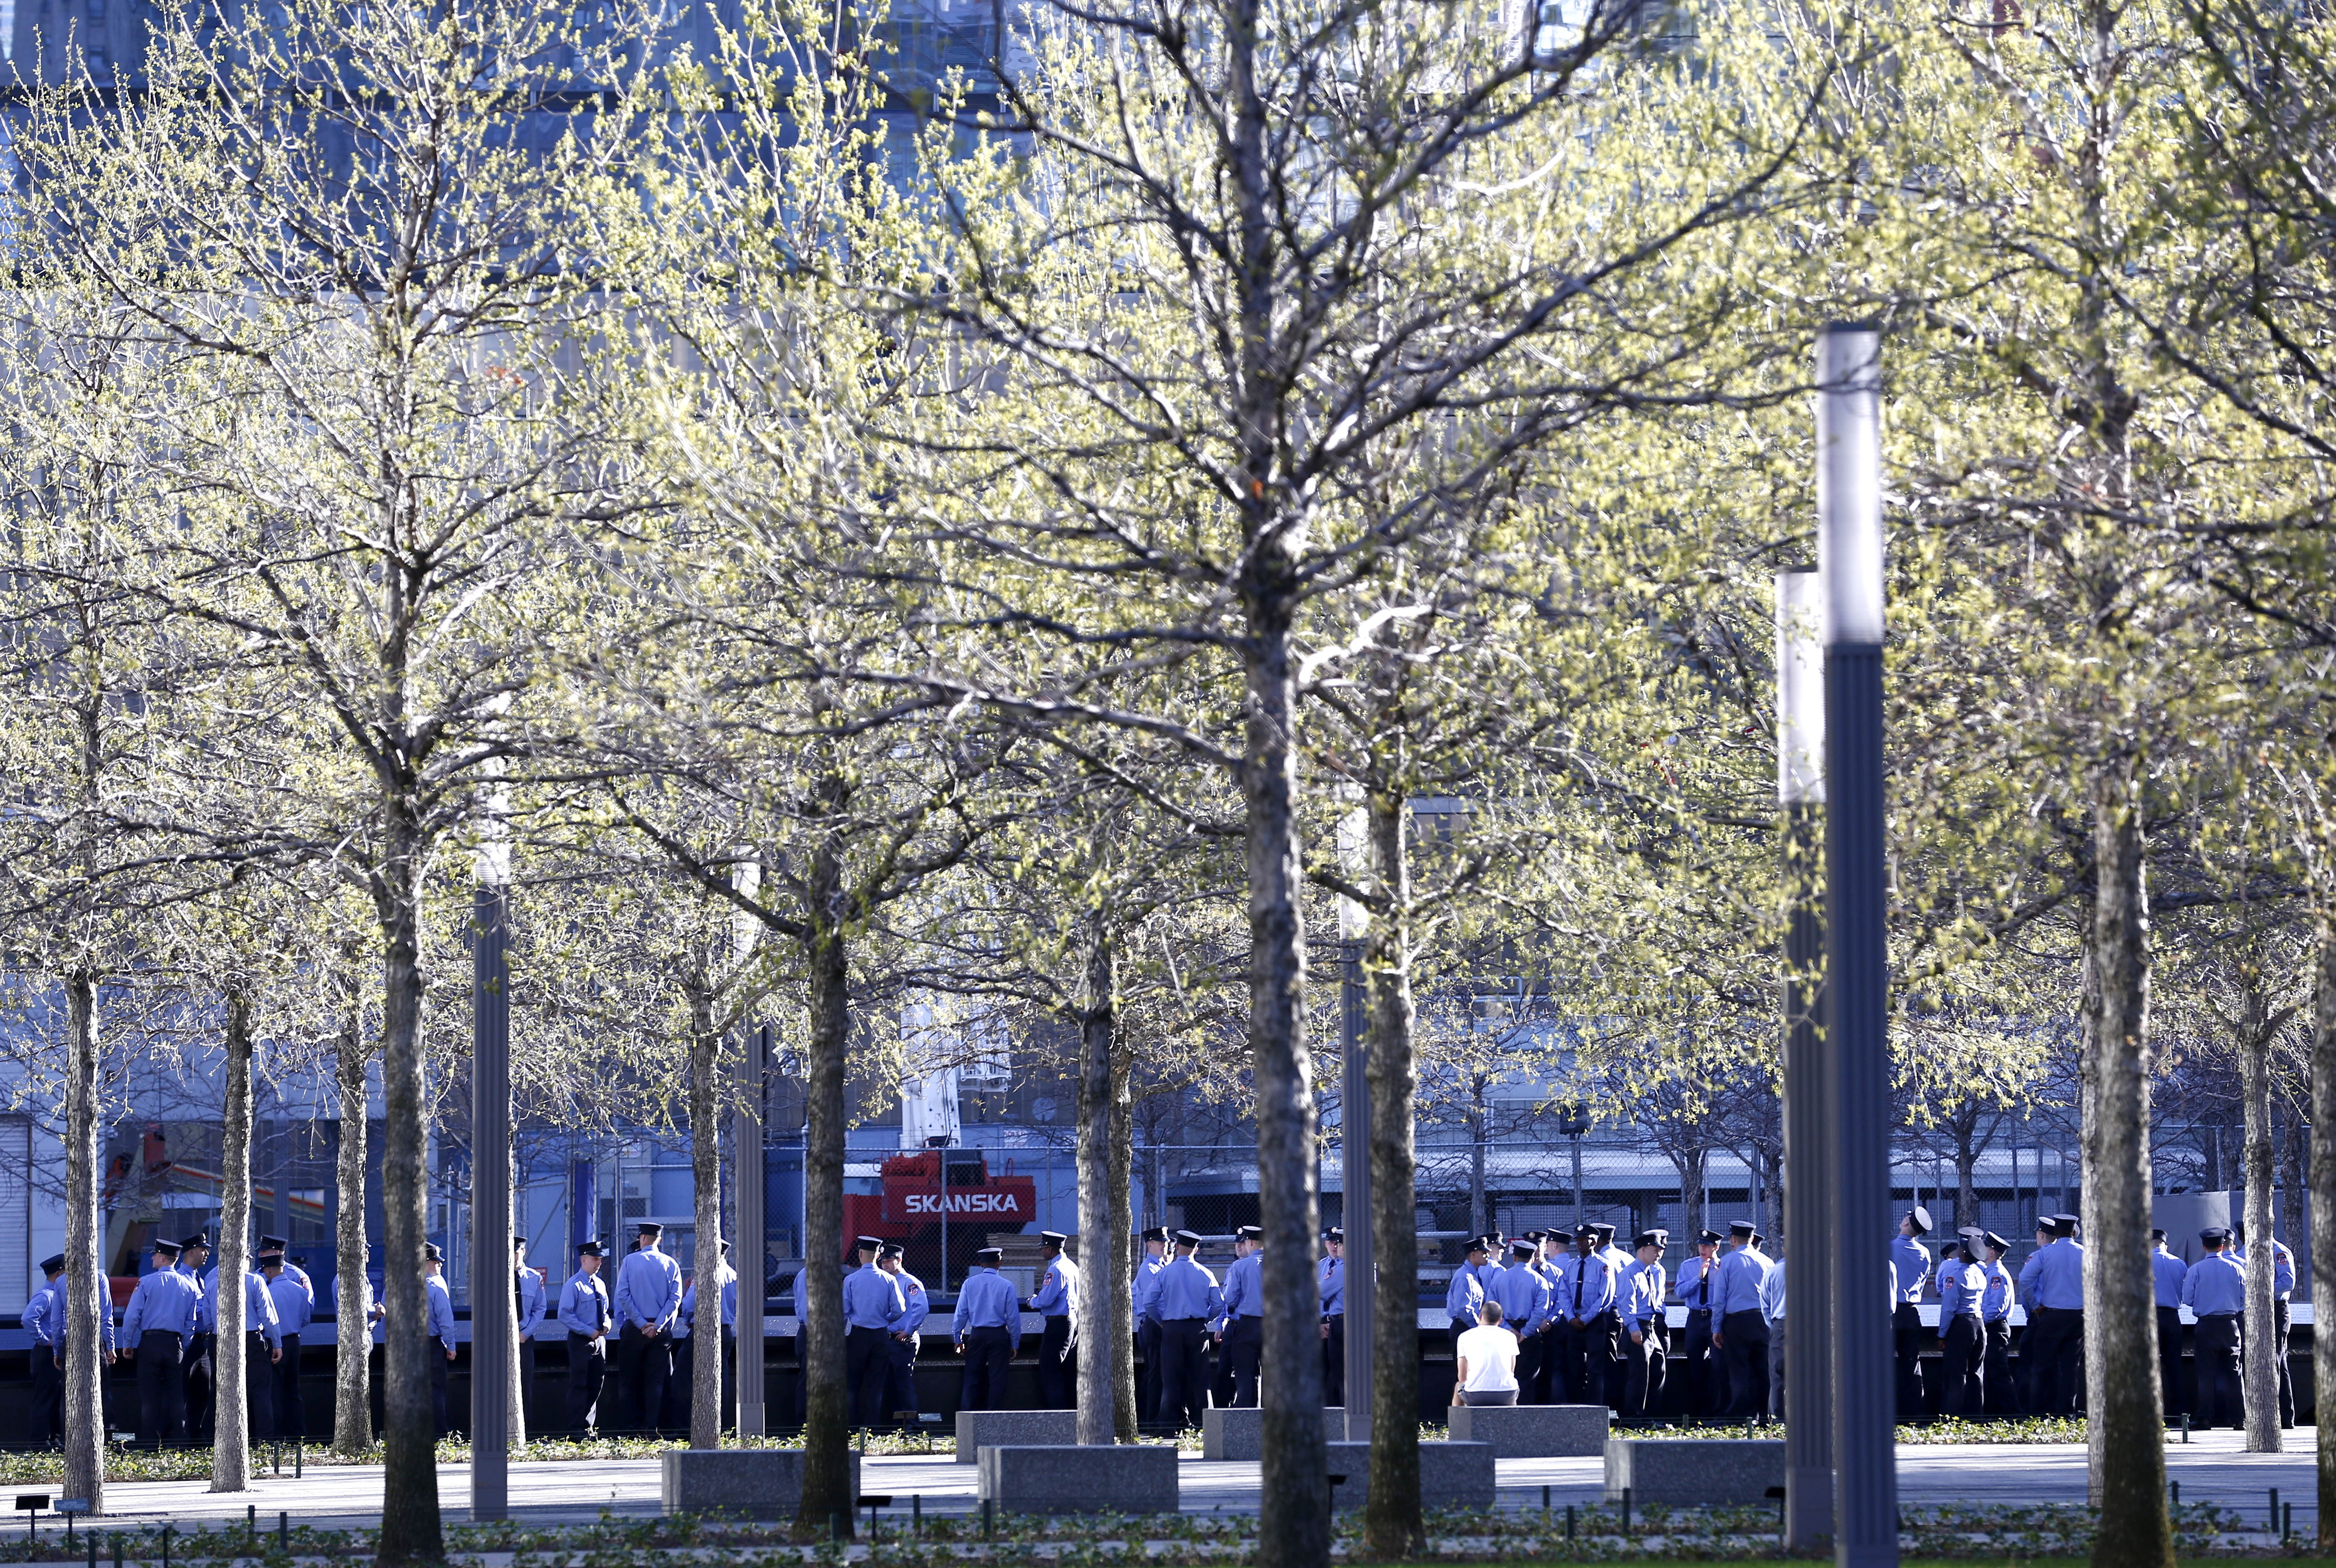
{"type": "Polygon", "coordinates": [[[1775,575],[1775,799],[1785,811],[1785,1547],[1834,1533],[1834,1133],[1820,1056],[1824,904],[1824,617],[1810,568],[1775,575]]]}

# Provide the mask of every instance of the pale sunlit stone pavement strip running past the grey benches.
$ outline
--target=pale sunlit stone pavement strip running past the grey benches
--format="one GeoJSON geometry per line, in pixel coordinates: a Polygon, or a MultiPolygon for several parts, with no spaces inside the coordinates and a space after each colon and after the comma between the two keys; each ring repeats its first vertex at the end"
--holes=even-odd
{"type": "MultiPolygon", "coordinates": [[[[2184,1503],[2219,1503],[2250,1517],[2266,1507],[2271,1489],[2310,1519],[2315,1503],[2313,1432],[2287,1432],[2285,1453],[2243,1453],[2238,1432],[2196,1432],[2189,1444],[2165,1444],[2165,1472],[2179,1482],[2184,1503]]],[[[1591,1505],[1602,1493],[1600,1458],[1504,1458],[1500,1503],[1504,1507],[1591,1505]]],[[[1203,1461],[1187,1453],[1177,1465],[1184,1512],[1257,1512],[1257,1463],[1203,1461]]],[[[927,1512],[979,1507],[974,1468],[951,1456],[869,1456],[862,1486],[892,1498],[892,1512],[909,1512],[923,1498],[927,1512]]],[[[2084,1446],[2079,1444],[1960,1444],[1899,1449],[1899,1498],[1906,1503],[2081,1503],[2084,1446]]],[[[178,1524],[243,1519],[259,1510],[264,1526],[276,1512],[320,1528],[371,1526],[381,1519],[381,1465],[315,1465],[306,1477],[262,1475],[252,1491],[210,1493],[203,1482],[114,1482],[105,1489],[107,1517],[124,1524],[178,1524]]],[[[449,1521],[470,1519],[470,1468],[439,1470],[439,1503],[449,1521]]],[[[603,1512],[649,1517],[659,1512],[659,1468],[652,1458],[551,1461],[512,1465],[512,1517],[530,1524],[589,1524],[603,1512]]]]}

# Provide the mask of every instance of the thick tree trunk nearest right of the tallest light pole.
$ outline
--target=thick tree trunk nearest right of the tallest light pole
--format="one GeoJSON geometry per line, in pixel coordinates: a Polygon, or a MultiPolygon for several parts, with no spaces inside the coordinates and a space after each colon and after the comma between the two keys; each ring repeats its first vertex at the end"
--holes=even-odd
{"type": "Polygon", "coordinates": [[[2149,1255],[2149,902],[2140,762],[2093,778],[2093,918],[2086,953],[2084,1374],[2098,1568],[2172,1568],[2165,1423],[2149,1255]]]}

